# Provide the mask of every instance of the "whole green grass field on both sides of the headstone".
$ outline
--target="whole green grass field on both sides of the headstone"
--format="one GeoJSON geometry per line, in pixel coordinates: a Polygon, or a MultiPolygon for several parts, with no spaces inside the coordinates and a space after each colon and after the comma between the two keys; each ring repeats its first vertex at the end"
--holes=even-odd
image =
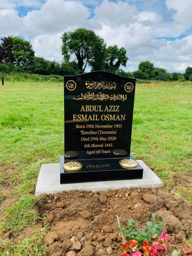
{"type": "MultiPolygon", "coordinates": [[[[191,82],[137,84],[131,144],[164,189],[188,202],[191,90],[191,82]]],[[[59,163],[63,155],[63,84],[5,81],[0,102],[0,255],[44,255],[47,228],[34,193],[41,164],[59,163]],[[33,236],[22,237],[26,230],[33,236]]]]}

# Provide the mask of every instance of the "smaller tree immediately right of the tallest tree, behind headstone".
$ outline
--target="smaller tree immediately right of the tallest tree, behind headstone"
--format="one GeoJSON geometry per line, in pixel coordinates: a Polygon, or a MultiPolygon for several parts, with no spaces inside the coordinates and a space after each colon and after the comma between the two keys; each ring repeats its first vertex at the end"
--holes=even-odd
{"type": "Polygon", "coordinates": [[[106,49],[106,60],[106,70],[111,72],[117,72],[120,65],[125,67],[128,60],[125,48],[118,49],[117,45],[109,46],[106,49]]]}

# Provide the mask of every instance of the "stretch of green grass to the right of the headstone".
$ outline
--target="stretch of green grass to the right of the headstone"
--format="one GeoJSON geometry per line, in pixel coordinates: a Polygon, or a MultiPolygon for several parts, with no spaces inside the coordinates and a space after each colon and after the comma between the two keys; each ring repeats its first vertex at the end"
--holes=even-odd
{"type": "Polygon", "coordinates": [[[163,180],[165,189],[192,202],[192,88],[189,85],[138,84],[132,152],[163,180]]]}

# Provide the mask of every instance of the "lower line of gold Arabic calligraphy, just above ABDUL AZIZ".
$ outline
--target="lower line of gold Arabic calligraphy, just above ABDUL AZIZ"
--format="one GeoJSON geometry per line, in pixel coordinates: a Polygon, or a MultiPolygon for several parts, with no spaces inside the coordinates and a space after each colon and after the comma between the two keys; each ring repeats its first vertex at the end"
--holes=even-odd
{"type": "Polygon", "coordinates": [[[108,95],[102,92],[94,93],[94,92],[86,92],[81,93],[81,95],[78,95],[73,98],[74,100],[127,100],[127,95],[124,94],[118,94],[118,95],[108,95]]]}

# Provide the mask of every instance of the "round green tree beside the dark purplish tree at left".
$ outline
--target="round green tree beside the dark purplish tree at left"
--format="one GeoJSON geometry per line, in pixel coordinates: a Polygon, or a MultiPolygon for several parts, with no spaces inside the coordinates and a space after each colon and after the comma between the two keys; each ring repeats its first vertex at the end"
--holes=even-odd
{"type": "Polygon", "coordinates": [[[24,67],[25,64],[31,65],[35,58],[35,51],[29,41],[19,36],[12,36],[13,40],[13,56],[16,67],[24,67]]]}

